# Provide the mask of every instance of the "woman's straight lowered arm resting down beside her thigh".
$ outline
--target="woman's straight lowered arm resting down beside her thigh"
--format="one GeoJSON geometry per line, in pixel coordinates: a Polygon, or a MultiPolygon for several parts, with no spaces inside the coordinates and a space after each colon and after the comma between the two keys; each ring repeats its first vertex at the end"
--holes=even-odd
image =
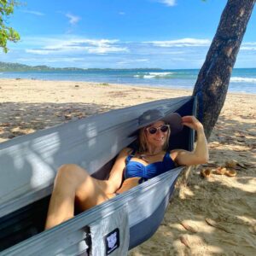
{"type": "Polygon", "coordinates": [[[125,159],[130,153],[131,148],[124,148],[115,160],[114,165],[109,174],[108,180],[97,180],[105,193],[111,194],[114,193],[117,189],[119,189],[123,180],[125,159]]]}

